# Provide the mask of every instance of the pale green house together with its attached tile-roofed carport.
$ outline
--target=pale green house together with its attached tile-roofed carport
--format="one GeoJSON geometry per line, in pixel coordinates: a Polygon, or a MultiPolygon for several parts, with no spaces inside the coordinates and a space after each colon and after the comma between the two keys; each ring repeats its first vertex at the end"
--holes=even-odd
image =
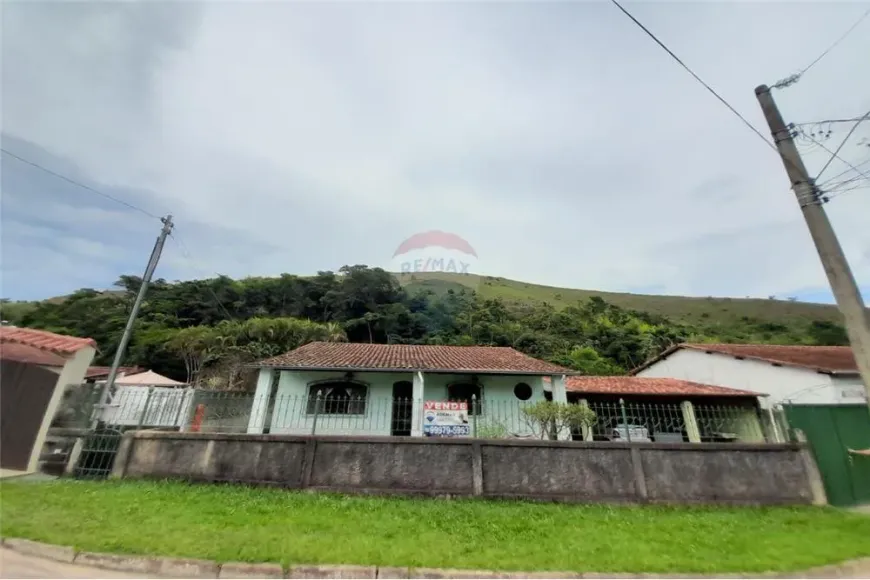
{"type": "Polygon", "coordinates": [[[258,366],[248,433],[778,440],[760,421],[759,393],[579,376],[507,347],[314,342],[258,366]],[[586,406],[588,423],[545,426],[534,414],[542,401],[586,406]]]}

